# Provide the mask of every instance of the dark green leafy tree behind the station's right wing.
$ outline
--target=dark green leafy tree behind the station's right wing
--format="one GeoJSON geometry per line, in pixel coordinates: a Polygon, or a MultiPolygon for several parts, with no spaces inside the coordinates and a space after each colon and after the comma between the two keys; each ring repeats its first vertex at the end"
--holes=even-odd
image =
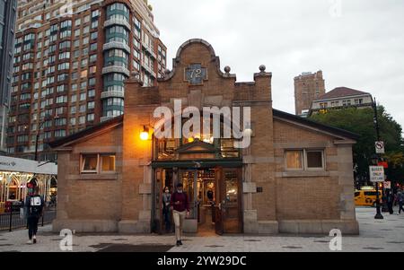
{"type": "MultiPolygon", "coordinates": [[[[394,182],[404,179],[404,147],[401,126],[386,112],[384,107],[378,106],[380,135],[384,141],[386,154],[383,156],[389,162],[388,178],[394,182]]],[[[325,113],[314,114],[310,118],[321,124],[335,126],[359,135],[353,147],[354,163],[356,164],[356,178],[364,184],[369,179],[369,165],[374,154],[374,142],[377,140],[373,126],[374,111],[371,108],[334,109],[325,113]]]]}

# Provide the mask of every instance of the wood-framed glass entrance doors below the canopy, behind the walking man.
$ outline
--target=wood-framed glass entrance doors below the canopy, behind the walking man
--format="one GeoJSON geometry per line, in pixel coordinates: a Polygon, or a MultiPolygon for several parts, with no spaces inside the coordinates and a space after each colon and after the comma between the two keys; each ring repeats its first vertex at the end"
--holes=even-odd
{"type": "Polygon", "coordinates": [[[189,198],[189,217],[185,232],[241,233],[242,232],[242,178],[241,169],[156,169],[154,174],[154,231],[167,231],[173,222],[171,213],[164,215],[162,193],[164,187],[176,190],[182,183],[189,198]]]}

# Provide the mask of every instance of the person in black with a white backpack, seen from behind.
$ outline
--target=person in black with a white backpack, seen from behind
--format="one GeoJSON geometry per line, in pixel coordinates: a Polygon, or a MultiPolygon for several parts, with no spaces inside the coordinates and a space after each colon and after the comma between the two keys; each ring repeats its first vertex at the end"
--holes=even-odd
{"type": "Polygon", "coordinates": [[[38,222],[43,211],[44,200],[40,196],[40,187],[29,188],[29,196],[25,200],[28,222],[28,244],[37,243],[38,222]]]}

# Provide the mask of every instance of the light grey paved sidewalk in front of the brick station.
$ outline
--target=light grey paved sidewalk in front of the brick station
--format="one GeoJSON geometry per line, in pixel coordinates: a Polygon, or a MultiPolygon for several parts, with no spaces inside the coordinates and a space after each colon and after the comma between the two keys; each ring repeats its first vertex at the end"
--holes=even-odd
{"type": "MultiPolygon", "coordinates": [[[[342,251],[404,251],[404,213],[397,215],[383,213],[383,220],[374,220],[375,209],[356,208],[360,235],[343,236],[342,251]]],[[[0,231],[0,251],[54,251],[66,252],[59,248],[63,239],[51,232],[51,225],[40,227],[38,243],[26,244],[26,230],[0,231]]],[[[183,246],[174,247],[173,235],[119,235],[119,234],[75,234],[74,252],[95,251],[169,251],[169,252],[331,252],[329,241],[332,237],[322,235],[275,236],[187,236],[183,246]]]]}

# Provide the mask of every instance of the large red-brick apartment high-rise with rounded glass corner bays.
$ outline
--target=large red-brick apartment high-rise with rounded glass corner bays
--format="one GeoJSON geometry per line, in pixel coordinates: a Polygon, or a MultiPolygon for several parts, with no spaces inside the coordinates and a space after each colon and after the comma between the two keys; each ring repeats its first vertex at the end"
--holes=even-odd
{"type": "Polygon", "coordinates": [[[159,34],[144,0],[20,0],[7,152],[53,160],[50,141],[121,115],[130,74],[164,74],[159,34]]]}

